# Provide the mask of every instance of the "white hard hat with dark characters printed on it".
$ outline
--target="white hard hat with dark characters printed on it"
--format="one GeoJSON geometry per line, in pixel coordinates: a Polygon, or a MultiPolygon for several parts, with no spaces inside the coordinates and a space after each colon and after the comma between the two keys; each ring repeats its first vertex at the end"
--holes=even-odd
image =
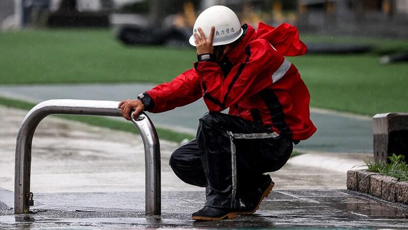
{"type": "Polygon", "coordinates": [[[229,44],[241,37],[243,30],[237,15],[225,6],[212,6],[202,11],[195,20],[193,35],[190,44],[196,46],[194,33],[200,36],[197,28],[200,27],[206,38],[210,35],[211,27],[215,27],[213,45],[229,44]]]}

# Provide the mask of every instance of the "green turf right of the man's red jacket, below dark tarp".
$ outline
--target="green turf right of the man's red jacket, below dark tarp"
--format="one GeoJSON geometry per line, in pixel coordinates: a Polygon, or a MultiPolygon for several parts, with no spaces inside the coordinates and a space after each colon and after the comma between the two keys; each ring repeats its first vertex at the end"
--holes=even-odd
{"type": "Polygon", "coordinates": [[[373,54],[290,58],[311,94],[311,106],[373,116],[408,111],[408,63],[378,64],[373,54]]]}

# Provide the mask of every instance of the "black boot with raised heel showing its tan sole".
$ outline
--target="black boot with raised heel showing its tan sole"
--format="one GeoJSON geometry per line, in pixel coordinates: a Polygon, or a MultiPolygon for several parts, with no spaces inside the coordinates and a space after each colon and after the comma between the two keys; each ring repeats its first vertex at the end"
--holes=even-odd
{"type": "Polygon", "coordinates": [[[269,193],[272,191],[275,182],[268,176],[267,180],[262,184],[262,186],[252,194],[241,198],[241,203],[244,206],[241,206],[238,210],[240,215],[249,215],[254,212],[257,212],[259,206],[261,205],[262,200],[265,197],[268,197],[269,193]]]}

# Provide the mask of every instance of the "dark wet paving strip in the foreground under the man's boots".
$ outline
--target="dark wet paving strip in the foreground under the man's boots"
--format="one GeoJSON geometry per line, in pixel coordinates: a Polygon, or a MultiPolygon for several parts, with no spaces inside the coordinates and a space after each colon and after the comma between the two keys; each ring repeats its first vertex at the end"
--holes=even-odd
{"type": "Polygon", "coordinates": [[[162,197],[162,215],[146,217],[141,212],[143,209],[141,192],[39,194],[37,199],[43,203],[35,207],[35,213],[0,217],[3,222],[0,226],[25,229],[406,229],[408,225],[407,211],[361,195],[350,194],[345,190],[276,190],[263,201],[256,214],[223,221],[191,220],[191,213],[204,202],[202,192],[164,192],[162,197]]]}

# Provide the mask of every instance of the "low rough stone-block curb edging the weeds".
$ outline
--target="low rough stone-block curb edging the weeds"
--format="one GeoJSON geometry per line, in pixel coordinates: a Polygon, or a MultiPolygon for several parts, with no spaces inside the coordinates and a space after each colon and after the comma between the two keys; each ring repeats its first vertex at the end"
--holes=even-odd
{"type": "Polygon", "coordinates": [[[390,202],[408,204],[408,181],[364,170],[347,171],[347,189],[390,202]]]}

